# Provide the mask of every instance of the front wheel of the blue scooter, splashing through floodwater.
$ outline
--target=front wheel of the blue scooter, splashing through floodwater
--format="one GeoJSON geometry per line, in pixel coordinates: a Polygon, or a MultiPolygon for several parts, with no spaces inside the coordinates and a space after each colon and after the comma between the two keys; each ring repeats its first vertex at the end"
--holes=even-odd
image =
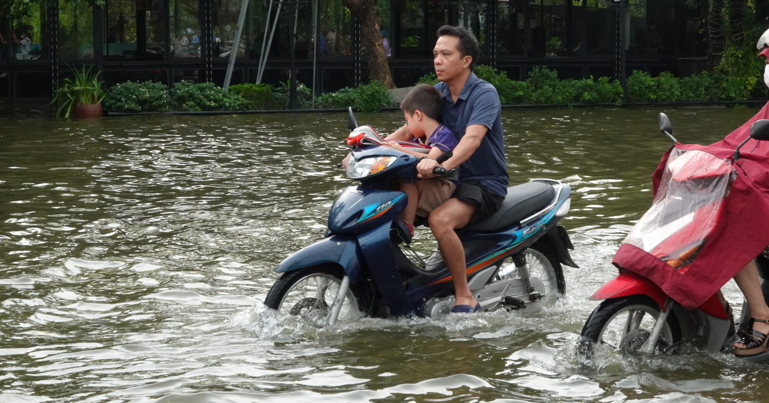
{"type": "MultiPolygon", "coordinates": [[[[325,327],[331,306],[339,292],[344,273],[334,266],[311,266],[284,273],[272,285],[265,305],[282,315],[294,315],[311,325],[325,327]]],[[[361,290],[351,284],[342,303],[337,322],[355,322],[364,299],[361,290]]]]}

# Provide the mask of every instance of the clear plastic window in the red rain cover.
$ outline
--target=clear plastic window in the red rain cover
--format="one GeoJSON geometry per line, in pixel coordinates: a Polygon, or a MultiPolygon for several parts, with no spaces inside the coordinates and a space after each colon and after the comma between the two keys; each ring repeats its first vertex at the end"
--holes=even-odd
{"type": "Polygon", "coordinates": [[[734,173],[732,162],[674,148],[654,203],[624,242],[686,272],[716,226],[734,173]]]}

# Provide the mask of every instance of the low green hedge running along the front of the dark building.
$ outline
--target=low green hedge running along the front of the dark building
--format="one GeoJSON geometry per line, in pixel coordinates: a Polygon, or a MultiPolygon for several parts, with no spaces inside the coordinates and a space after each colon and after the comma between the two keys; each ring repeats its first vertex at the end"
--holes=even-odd
{"type": "MultiPolygon", "coordinates": [[[[500,71],[483,64],[475,68],[478,78],[488,81],[497,89],[501,104],[616,104],[621,105],[622,87],[619,81],[608,77],[598,80],[592,76],[582,80],[561,80],[556,71],[535,67],[526,81],[508,78],[500,71]]],[[[426,74],[417,84],[437,84],[434,73],[426,74]]],[[[702,72],[687,78],[675,78],[669,72],[651,77],[644,71],[633,71],[628,77],[628,101],[741,101],[746,99],[746,84],[741,78],[724,75],[721,71],[702,72]]],[[[268,84],[237,84],[230,91],[212,83],[191,84],[181,81],[169,91],[159,83],[123,83],[110,88],[105,97],[105,108],[111,112],[145,111],[249,111],[285,109],[288,107],[288,81],[278,87],[268,84]]],[[[312,107],[311,90],[298,83],[300,108],[312,107]]],[[[381,111],[394,106],[391,94],[381,81],[372,80],[358,88],[315,97],[315,107],[354,107],[362,112],[381,111]]]]}

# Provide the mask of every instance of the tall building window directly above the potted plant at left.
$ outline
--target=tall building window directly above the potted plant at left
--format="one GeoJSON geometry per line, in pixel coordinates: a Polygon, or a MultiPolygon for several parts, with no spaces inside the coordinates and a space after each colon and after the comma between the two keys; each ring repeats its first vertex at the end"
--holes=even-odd
{"type": "Polygon", "coordinates": [[[58,2],[58,59],[94,58],[94,26],[91,2],[58,2]]]}

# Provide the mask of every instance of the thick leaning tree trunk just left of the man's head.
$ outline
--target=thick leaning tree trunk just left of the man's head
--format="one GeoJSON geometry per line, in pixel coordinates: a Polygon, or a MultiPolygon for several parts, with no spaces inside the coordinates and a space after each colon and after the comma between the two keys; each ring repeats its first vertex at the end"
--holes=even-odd
{"type": "Polygon", "coordinates": [[[371,80],[381,81],[388,89],[395,88],[390,74],[390,64],[382,44],[376,0],[341,0],[341,2],[361,22],[361,41],[371,80]]]}

